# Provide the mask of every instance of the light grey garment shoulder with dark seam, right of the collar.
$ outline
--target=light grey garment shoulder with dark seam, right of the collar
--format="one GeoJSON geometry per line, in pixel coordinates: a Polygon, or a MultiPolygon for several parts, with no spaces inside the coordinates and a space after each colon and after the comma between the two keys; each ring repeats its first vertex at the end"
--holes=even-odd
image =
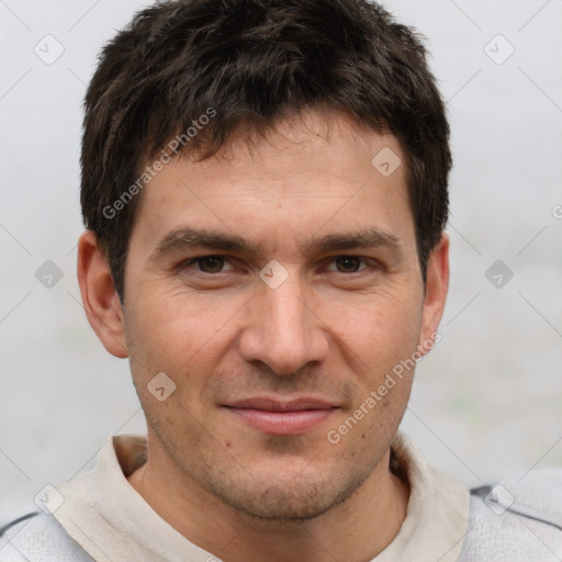
{"type": "Polygon", "coordinates": [[[459,562],[562,559],[562,469],[512,474],[471,491],[459,562]]]}

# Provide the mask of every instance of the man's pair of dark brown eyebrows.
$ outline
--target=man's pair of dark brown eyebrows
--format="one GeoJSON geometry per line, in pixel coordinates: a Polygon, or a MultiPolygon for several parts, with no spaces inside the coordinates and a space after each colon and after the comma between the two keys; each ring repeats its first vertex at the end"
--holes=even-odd
{"type": "MultiPolygon", "coordinates": [[[[246,254],[259,254],[263,251],[262,244],[252,244],[235,234],[224,234],[205,228],[186,227],[172,231],[160,238],[153,254],[158,257],[194,247],[246,254]]],[[[319,254],[361,247],[386,247],[400,256],[403,255],[403,244],[396,235],[375,228],[352,233],[328,234],[321,238],[310,238],[300,246],[300,250],[303,254],[319,254]]]]}

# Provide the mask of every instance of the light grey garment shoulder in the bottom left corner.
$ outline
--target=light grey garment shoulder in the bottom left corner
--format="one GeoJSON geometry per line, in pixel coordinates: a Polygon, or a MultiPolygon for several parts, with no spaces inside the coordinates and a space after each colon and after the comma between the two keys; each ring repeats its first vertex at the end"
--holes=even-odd
{"type": "Polygon", "coordinates": [[[0,529],[0,562],[93,562],[52,515],[27,514],[0,529]]]}

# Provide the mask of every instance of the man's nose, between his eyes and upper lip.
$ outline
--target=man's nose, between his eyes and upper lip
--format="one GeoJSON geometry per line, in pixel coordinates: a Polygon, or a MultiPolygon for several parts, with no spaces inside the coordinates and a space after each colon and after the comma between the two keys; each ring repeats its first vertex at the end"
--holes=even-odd
{"type": "Polygon", "coordinates": [[[277,374],[292,374],[325,360],[327,327],[317,314],[312,289],[290,273],[277,289],[260,282],[257,291],[238,340],[243,358],[265,363],[277,374]]]}

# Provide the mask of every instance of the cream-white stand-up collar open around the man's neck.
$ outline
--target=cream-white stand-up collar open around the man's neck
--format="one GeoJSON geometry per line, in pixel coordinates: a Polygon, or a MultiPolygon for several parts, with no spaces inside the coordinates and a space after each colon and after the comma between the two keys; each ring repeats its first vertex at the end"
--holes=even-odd
{"type": "MultiPolygon", "coordinates": [[[[392,450],[405,470],[411,496],[395,539],[372,562],[453,562],[469,520],[469,492],[427,465],[398,431],[392,450]]],[[[145,459],[146,438],[115,436],[101,449],[95,468],[58,486],[65,502],[54,513],[65,530],[97,561],[209,562],[211,554],[166,522],[127,482],[145,459]]]]}

